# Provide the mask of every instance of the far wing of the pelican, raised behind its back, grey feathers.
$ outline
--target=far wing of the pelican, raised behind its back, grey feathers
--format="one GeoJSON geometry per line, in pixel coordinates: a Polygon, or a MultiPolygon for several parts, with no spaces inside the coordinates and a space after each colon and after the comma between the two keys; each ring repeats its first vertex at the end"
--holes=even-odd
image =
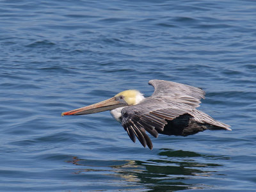
{"type": "Polygon", "coordinates": [[[175,83],[172,81],[164,81],[153,79],[148,84],[154,86],[155,91],[152,98],[161,98],[188,104],[197,108],[200,104],[200,99],[204,99],[205,92],[195,86],[187,84],[175,83]]]}

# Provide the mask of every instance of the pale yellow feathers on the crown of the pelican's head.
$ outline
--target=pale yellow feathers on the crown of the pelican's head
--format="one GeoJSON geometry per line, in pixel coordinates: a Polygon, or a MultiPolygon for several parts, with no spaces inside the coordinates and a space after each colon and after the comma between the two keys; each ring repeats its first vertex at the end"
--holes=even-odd
{"type": "Polygon", "coordinates": [[[115,95],[115,97],[123,96],[125,102],[129,104],[129,106],[136,105],[144,99],[143,95],[137,90],[126,90],[124,92],[120,92],[115,95]]]}

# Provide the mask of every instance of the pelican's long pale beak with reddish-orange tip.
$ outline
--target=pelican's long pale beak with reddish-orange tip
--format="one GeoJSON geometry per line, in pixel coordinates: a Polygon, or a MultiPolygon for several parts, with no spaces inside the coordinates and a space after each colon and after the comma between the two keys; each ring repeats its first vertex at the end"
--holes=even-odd
{"type": "Polygon", "coordinates": [[[64,115],[86,115],[91,113],[99,113],[102,111],[108,111],[120,107],[124,107],[127,104],[121,103],[119,100],[116,100],[115,97],[112,97],[108,100],[92,104],[90,106],[85,106],[83,108],[74,109],[72,111],[67,111],[61,113],[61,116],[64,115]]]}

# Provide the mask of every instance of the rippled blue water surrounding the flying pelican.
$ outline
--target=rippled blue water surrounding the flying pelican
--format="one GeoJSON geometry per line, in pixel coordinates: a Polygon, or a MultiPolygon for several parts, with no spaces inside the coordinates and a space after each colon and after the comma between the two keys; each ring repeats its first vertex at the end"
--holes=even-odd
{"type": "Polygon", "coordinates": [[[255,191],[255,1],[0,1],[1,191],[255,191]],[[150,79],[203,88],[232,126],[132,143],[63,111],[150,79]]]}

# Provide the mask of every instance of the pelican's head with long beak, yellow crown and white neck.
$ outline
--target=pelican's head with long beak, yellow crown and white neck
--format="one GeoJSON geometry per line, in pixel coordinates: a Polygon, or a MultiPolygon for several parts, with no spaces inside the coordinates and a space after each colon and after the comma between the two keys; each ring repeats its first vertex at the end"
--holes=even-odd
{"type": "Polygon", "coordinates": [[[90,106],[85,106],[83,108],[74,109],[71,111],[61,113],[64,115],[87,115],[91,113],[99,113],[102,111],[111,110],[111,115],[114,116],[116,120],[119,121],[121,116],[121,110],[125,106],[136,105],[144,99],[143,95],[137,90],[126,90],[116,94],[114,97],[103,100],[96,104],[90,106]]]}

